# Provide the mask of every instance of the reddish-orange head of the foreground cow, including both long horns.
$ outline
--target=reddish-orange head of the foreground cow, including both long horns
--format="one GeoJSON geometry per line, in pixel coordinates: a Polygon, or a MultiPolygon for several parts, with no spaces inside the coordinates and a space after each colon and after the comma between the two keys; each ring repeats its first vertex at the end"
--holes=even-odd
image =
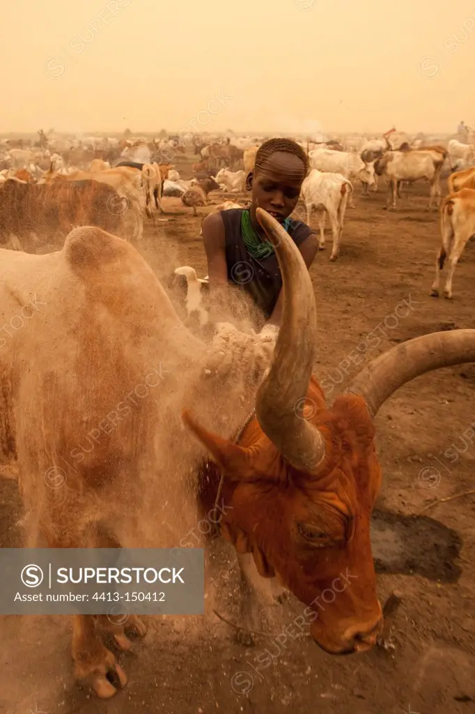
{"type": "Polygon", "coordinates": [[[282,226],[260,208],[257,216],[275,246],[285,301],[255,417],[237,443],[206,431],[188,412],[183,418],[213,459],[210,473],[223,474],[222,535],[238,553],[252,553],[262,577],[277,575],[307,605],[312,637],[327,652],[367,650],[382,630],[369,534],[381,483],[372,418],[409,379],[475,361],[475,330],[397,346],[329,408],[312,376],[309,273],[282,226]]]}

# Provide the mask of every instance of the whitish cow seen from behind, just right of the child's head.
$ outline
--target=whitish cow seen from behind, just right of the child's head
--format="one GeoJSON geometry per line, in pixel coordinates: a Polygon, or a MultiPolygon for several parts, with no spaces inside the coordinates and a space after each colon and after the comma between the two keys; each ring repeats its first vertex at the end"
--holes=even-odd
{"type": "Polygon", "coordinates": [[[325,217],[328,213],[332,226],[333,247],[330,260],[339,255],[339,241],[342,237],[344,213],[348,196],[353,191],[352,184],[342,174],[330,174],[312,169],[302,183],[300,196],[307,210],[307,225],[310,226],[312,210],[320,209],[320,250],[325,248],[325,217]]]}

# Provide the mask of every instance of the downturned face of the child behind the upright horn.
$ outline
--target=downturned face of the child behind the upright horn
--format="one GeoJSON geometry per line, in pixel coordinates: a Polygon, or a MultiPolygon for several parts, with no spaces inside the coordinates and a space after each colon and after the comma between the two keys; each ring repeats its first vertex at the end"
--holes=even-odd
{"type": "Polygon", "coordinates": [[[300,188],[305,178],[302,159],[287,151],[275,151],[257,171],[252,171],[252,223],[259,225],[255,216],[256,208],[264,208],[267,213],[283,221],[297,206],[300,188]]]}

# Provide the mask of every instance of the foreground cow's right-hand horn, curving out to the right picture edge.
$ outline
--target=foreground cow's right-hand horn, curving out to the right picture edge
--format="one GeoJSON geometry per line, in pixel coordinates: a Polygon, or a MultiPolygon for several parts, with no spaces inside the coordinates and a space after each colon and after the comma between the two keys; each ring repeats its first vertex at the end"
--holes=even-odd
{"type": "Polygon", "coordinates": [[[415,377],[466,362],[475,362],[475,330],[434,332],[403,342],[374,359],[347,393],[361,395],[374,417],[399,387],[415,377]]]}

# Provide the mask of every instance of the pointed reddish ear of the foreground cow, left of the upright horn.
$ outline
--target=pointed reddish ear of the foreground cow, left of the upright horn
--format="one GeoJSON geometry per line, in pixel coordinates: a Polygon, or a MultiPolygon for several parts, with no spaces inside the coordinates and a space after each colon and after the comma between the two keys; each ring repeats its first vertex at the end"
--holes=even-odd
{"type": "Polygon", "coordinates": [[[195,421],[190,412],[182,412],[186,426],[195,433],[201,443],[205,445],[213,456],[214,461],[223,469],[226,476],[233,481],[254,481],[255,472],[252,469],[250,450],[237,446],[233,441],[223,439],[218,434],[207,431],[195,421]]]}

